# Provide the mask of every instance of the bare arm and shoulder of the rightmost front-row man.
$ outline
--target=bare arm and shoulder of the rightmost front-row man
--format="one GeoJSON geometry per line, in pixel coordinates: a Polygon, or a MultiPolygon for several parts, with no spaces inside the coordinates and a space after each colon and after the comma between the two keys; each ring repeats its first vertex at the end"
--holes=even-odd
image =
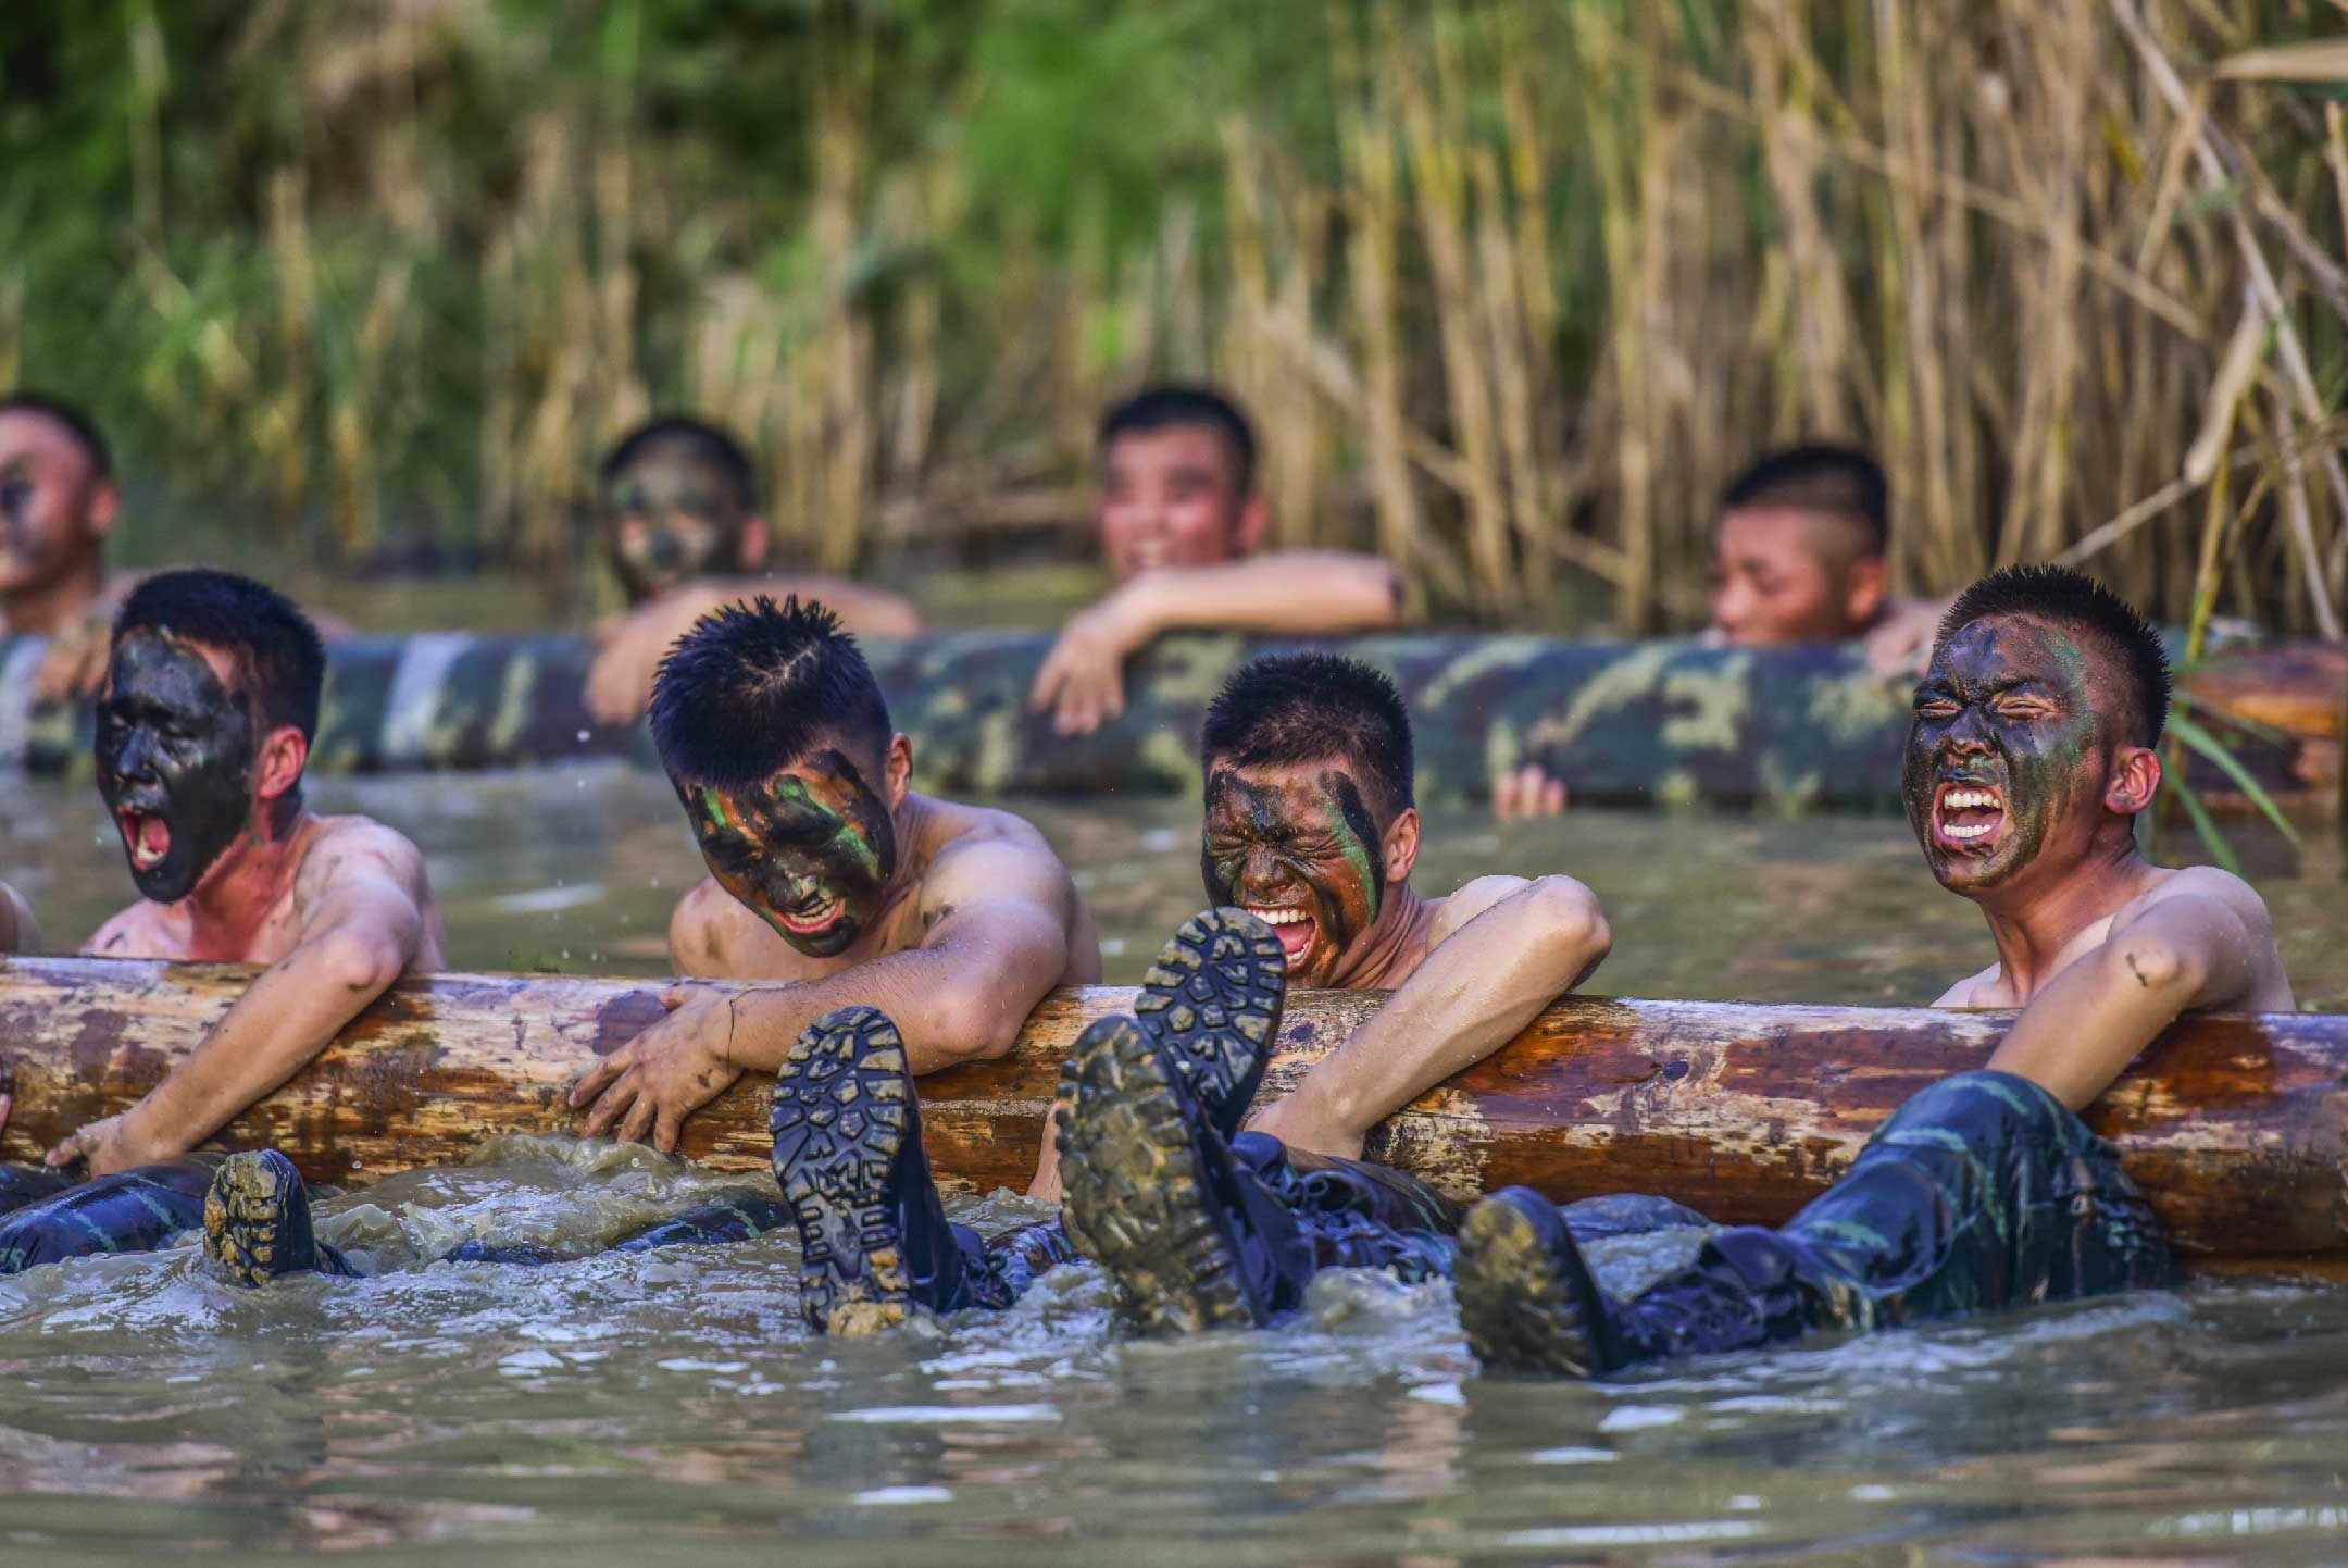
{"type": "Polygon", "coordinates": [[[2292,1012],[2266,904],[2217,866],[2170,873],[2111,918],[2005,1033],[1989,1066],[2085,1110],[2181,1012],[2292,1012]]]}

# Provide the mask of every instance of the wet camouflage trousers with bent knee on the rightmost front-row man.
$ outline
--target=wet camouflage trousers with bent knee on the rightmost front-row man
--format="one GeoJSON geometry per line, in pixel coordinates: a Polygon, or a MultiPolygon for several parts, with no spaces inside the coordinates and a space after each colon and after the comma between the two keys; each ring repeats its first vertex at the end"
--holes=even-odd
{"type": "Polygon", "coordinates": [[[1698,1275],[1738,1286],[1738,1338],[1759,1345],[2160,1286],[2177,1265],[2113,1148],[2038,1084],[1984,1070],[1914,1096],[1782,1230],[1721,1230],[1630,1305],[1698,1275]]]}

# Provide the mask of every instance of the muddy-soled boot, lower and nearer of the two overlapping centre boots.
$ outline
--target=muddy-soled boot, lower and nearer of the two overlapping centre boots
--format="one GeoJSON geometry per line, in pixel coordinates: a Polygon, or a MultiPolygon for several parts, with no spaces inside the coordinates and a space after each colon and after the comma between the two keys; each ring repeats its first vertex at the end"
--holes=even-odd
{"type": "Polygon", "coordinates": [[[1233,1160],[1190,1080],[1132,1019],[1099,1019],[1061,1073],[1059,1155],[1071,1239],[1143,1333],[1259,1326],[1294,1307],[1313,1244],[1233,1160]]]}

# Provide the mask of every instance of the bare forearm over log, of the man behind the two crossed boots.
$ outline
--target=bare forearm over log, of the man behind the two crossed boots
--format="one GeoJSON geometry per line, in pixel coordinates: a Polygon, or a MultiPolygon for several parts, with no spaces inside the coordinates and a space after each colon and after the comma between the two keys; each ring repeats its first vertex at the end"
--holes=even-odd
{"type": "Polygon", "coordinates": [[[1613,937],[1571,876],[1486,876],[1444,899],[1402,988],[1254,1117],[1289,1148],[1359,1157],[1371,1127],[1514,1040],[1604,962],[1613,937]]]}

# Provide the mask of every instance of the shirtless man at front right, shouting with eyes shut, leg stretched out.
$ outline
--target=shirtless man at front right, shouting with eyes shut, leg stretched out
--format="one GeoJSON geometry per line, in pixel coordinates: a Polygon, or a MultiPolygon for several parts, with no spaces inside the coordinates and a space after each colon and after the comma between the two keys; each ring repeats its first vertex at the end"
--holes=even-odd
{"type": "Polygon", "coordinates": [[[2167,1282],[2151,1209],[2073,1113],[2181,1012],[2292,1009],[2259,894],[2137,850],[2167,704],[2160,641],[2097,582],[2012,568],[1965,589],[1916,688],[1902,793],[1932,876],[1982,906],[1998,951],[1939,1005],[2022,1016],[1789,1225],[1716,1232],[1634,1300],[1597,1289],[1547,1199],[1484,1199],[1458,1265],[1477,1357],[1590,1378],[2167,1282]]]}

